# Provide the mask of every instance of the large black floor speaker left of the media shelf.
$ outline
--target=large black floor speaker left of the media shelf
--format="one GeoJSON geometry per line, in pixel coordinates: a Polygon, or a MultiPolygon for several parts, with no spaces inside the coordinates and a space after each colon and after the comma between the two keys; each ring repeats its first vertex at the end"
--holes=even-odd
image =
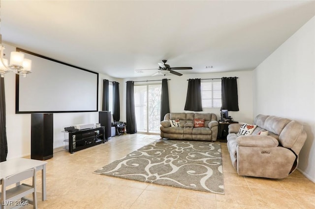
{"type": "Polygon", "coordinates": [[[54,118],[52,113],[31,114],[31,158],[53,157],[54,118]]]}

